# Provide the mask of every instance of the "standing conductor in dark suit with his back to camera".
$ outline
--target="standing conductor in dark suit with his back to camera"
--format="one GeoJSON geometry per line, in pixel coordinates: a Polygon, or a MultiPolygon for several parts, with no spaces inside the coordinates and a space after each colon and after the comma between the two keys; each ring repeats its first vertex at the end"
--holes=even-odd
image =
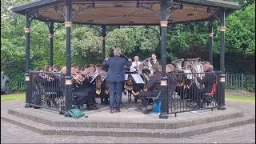
{"type": "Polygon", "coordinates": [[[120,112],[122,90],[125,81],[125,66],[131,66],[131,60],[121,58],[121,50],[114,49],[114,57],[106,58],[102,66],[108,66],[107,81],[110,89],[110,113],[120,112]],[[114,111],[115,110],[115,111],[114,111]]]}

